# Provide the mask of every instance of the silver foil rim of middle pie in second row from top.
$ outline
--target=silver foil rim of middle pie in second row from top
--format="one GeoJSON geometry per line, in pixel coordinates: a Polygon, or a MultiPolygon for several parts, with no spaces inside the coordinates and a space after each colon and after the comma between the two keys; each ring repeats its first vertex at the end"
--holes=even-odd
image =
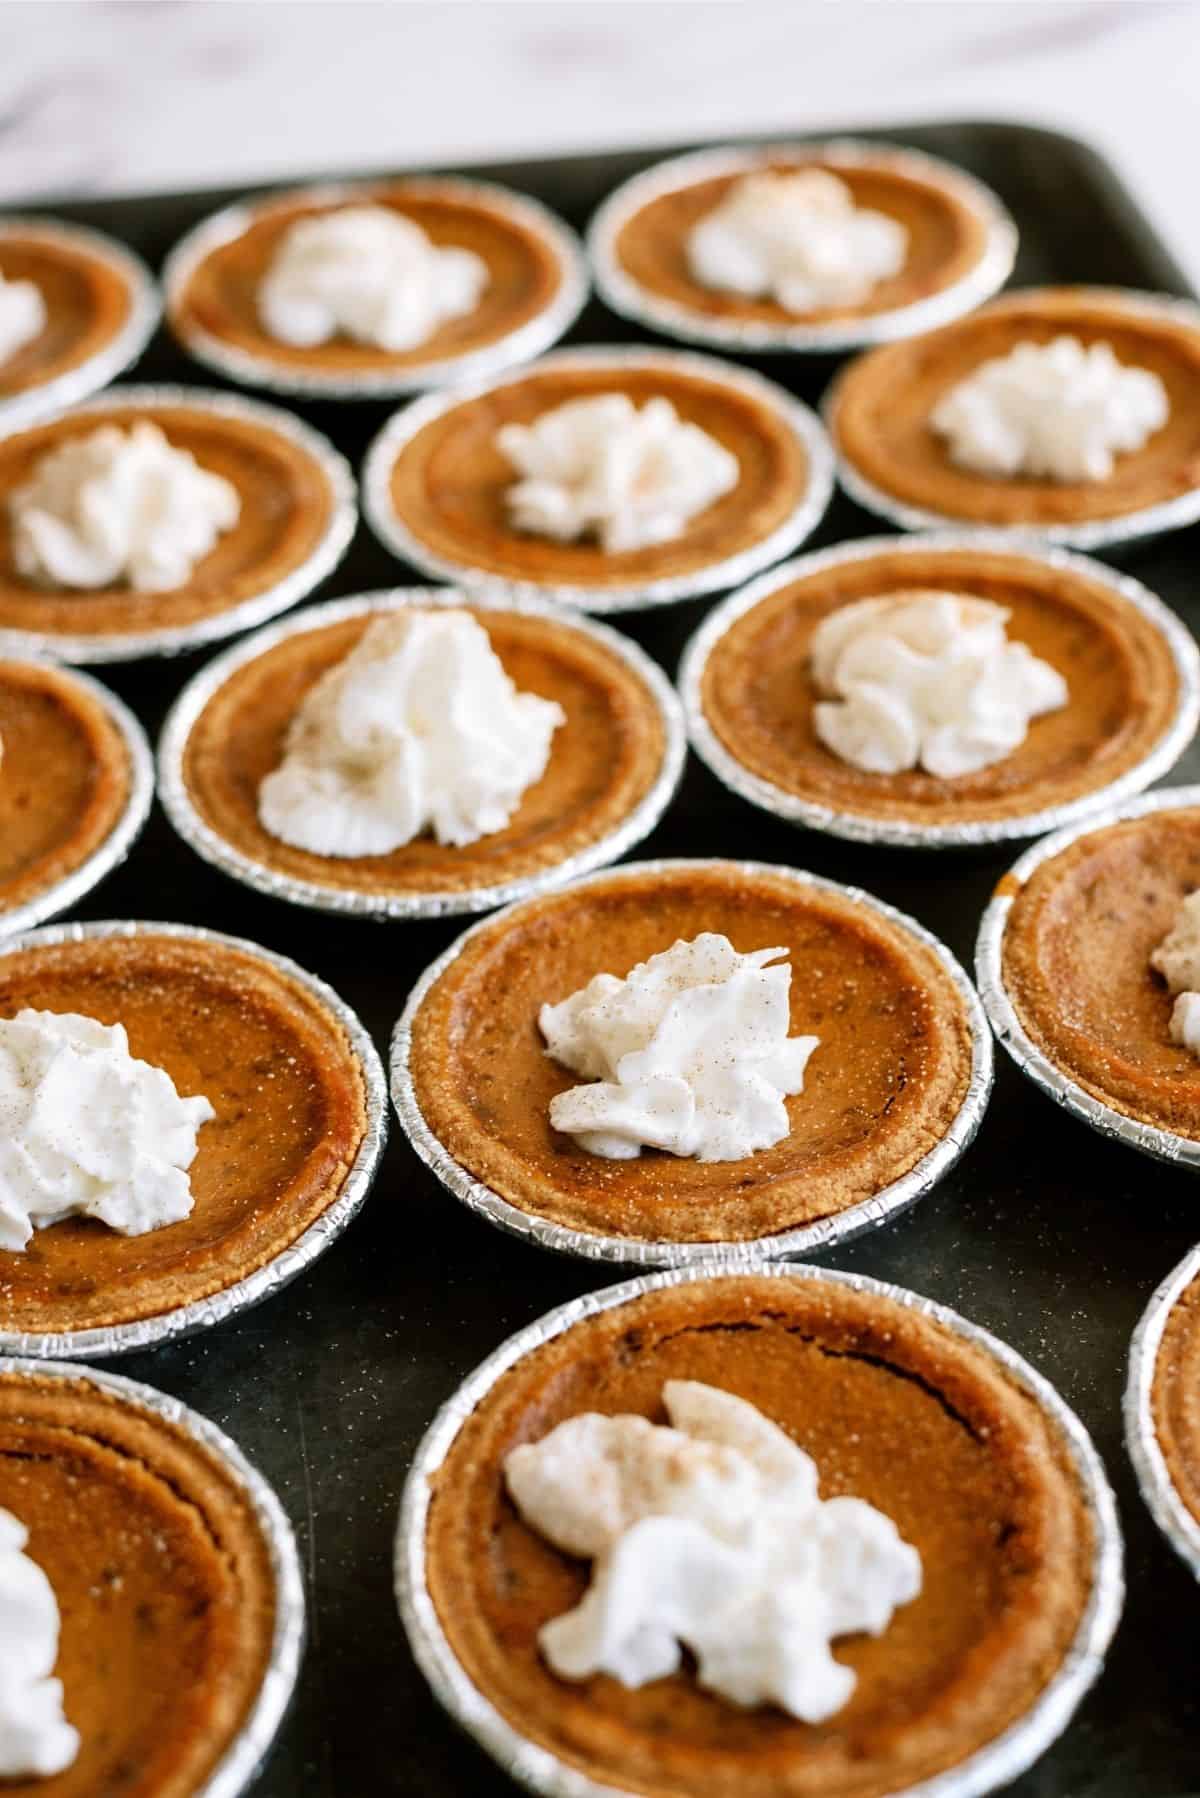
{"type": "Polygon", "coordinates": [[[720,588],[736,586],[761,568],[768,568],[797,548],[820,523],[833,494],[833,446],[826,437],[815,412],[788,394],[775,381],[748,369],[736,369],[716,356],[698,356],[691,351],[653,349],[649,345],[588,345],[587,349],[560,349],[551,356],[542,356],[524,369],[515,369],[493,381],[479,381],[470,387],[455,387],[446,394],[426,394],[401,412],[392,414],[378,433],[362,467],[362,507],[363,518],[374,530],[383,548],[401,561],[410,563],[423,574],[439,581],[457,581],[464,586],[484,586],[495,593],[509,593],[524,599],[549,599],[560,606],[576,606],[581,611],[639,611],[646,606],[666,606],[676,599],[694,599],[700,593],[716,593],[720,588]],[[556,581],[511,579],[489,570],[473,568],[470,563],[453,561],[414,536],[408,525],[396,514],[390,496],[390,475],[396,455],[417,432],[425,430],[444,412],[452,412],[468,401],[480,399],[498,387],[524,381],[531,374],[547,369],[666,369],[667,372],[691,374],[705,381],[745,394],[757,405],[770,408],[799,437],[808,462],[808,482],[799,505],[790,518],[784,518],[768,536],[732,556],[709,563],[705,568],[693,568],[689,574],[658,575],[651,581],[630,579],[606,586],[578,586],[556,581]]]}

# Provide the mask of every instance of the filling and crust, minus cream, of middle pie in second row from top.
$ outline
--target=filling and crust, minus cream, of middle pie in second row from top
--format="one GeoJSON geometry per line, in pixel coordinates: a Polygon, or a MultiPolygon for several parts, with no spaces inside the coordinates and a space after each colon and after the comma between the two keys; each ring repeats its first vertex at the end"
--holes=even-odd
{"type": "Polygon", "coordinates": [[[604,588],[696,574],[761,543],[795,512],[808,482],[793,426],[745,388],[673,367],[669,358],[646,369],[551,360],[423,424],[396,453],[389,498],[421,547],[453,565],[515,581],[604,588]],[[680,538],[637,550],[518,532],[506,494],[520,476],[497,432],[596,394],[628,394],[637,406],[669,399],[680,419],[738,458],[738,485],[691,518],[680,538]]]}

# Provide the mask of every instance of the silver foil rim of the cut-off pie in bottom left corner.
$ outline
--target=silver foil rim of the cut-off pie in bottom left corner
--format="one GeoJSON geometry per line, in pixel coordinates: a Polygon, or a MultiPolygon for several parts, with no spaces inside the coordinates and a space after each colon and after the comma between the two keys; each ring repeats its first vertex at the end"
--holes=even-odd
{"type": "Polygon", "coordinates": [[[304,1577],[300,1573],[300,1557],[291,1525],[273,1487],[218,1424],[200,1411],[193,1411],[182,1399],[167,1392],[158,1392],[157,1386],[128,1379],[124,1374],[83,1366],[77,1361],[14,1361],[2,1357],[0,1377],[7,1375],[29,1375],[31,1379],[63,1383],[79,1381],[112,1393],[113,1399],[131,1410],[162,1417],[223,1462],[245,1492],[254,1519],[266,1541],[272,1566],[275,1597],[272,1652],[246,1721],[194,1794],[194,1798],[237,1798],[255,1778],[279,1733],[304,1654],[304,1577]]]}

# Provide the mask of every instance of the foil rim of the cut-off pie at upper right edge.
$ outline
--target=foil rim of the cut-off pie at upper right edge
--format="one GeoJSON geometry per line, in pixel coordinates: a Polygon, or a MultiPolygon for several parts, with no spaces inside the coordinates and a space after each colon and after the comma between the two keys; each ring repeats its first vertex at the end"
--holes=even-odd
{"type": "MultiPolygon", "coordinates": [[[[1040,293],[1040,288],[1011,288],[999,304],[1007,298],[1022,298],[1040,293]]],[[[1137,288],[1081,286],[1087,298],[1103,300],[1112,307],[1124,307],[1132,316],[1166,318],[1173,324],[1187,325],[1200,334],[1200,306],[1195,300],[1180,300],[1166,293],[1142,293],[1137,288]]],[[[820,417],[833,444],[838,484],[844,493],[869,512],[876,512],[900,530],[966,530],[973,529],[972,520],[957,518],[954,512],[934,512],[907,500],[894,498],[885,487],[876,484],[856,467],[842,450],[837,432],[837,412],[842,383],[855,365],[847,363],[829,387],[820,403],[820,417]]],[[[1106,550],[1117,543],[1133,543],[1139,538],[1151,538],[1162,530],[1178,530],[1200,518],[1200,484],[1186,493],[1177,493],[1171,500],[1157,500],[1153,505],[1141,505],[1132,512],[1115,518],[1081,518],[1074,523],[1038,525],[1036,521],[1015,525],[990,525],[988,529],[1009,541],[1058,543],[1063,548],[1106,550]]]]}

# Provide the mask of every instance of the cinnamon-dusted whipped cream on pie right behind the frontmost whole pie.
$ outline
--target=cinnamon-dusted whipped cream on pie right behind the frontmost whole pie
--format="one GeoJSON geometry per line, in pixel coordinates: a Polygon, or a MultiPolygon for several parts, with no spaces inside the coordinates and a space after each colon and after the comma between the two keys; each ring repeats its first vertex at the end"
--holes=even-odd
{"type": "Polygon", "coordinates": [[[596,975],[560,1005],[543,1005],[547,1052],[590,1082],[551,1100],[554,1129],[610,1160],[666,1149],[738,1162],[781,1142],[784,1099],[804,1090],[820,1041],[788,1036],[786,953],[739,955],[729,937],[703,931],[624,980],[596,975]]]}

